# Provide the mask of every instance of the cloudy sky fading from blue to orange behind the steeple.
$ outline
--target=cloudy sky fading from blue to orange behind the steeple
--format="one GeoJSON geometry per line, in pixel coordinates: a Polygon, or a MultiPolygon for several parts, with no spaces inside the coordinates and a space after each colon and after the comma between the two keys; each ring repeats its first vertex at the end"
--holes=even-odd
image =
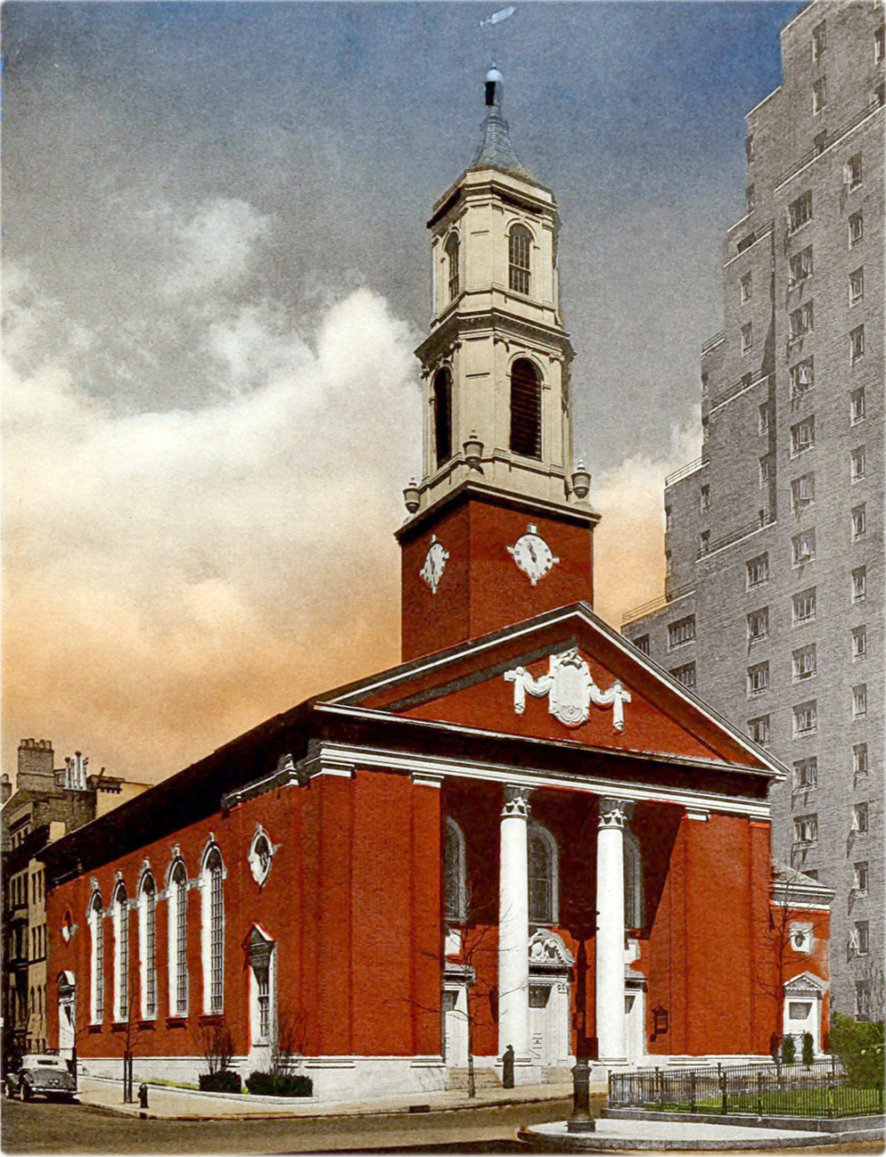
{"type": "Polygon", "coordinates": [[[398,659],[428,211],[494,51],[558,193],[598,611],[664,476],[798,2],[5,5],[3,746],[155,781],[398,659]]]}

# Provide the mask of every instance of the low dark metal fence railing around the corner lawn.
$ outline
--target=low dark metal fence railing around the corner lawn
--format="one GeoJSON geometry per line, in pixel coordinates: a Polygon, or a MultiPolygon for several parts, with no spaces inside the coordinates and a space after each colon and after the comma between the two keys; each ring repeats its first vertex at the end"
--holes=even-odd
{"type": "Polygon", "coordinates": [[[756,1117],[861,1117],[884,1111],[883,1084],[850,1084],[832,1056],[812,1064],[707,1066],[610,1074],[610,1108],[756,1117]]]}

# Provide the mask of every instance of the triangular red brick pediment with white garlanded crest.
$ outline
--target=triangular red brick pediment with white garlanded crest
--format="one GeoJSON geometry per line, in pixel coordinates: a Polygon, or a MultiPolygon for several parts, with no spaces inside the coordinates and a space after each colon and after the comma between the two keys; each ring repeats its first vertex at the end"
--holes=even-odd
{"type": "Polygon", "coordinates": [[[322,701],[613,754],[785,774],[584,603],[403,664],[322,701]]]}

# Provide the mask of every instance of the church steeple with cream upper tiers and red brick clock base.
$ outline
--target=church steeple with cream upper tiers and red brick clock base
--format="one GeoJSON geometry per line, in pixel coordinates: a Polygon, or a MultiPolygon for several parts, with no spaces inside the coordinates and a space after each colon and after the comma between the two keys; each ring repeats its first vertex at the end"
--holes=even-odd
{"type": "Polygon", "coordinates": [[[556,200],[517,159],[496,68],[485,98],[480,149],[428,222],[423,467],[397,533],[404,658],[592,599],[599,516],[573,472],[556,200]]]}

